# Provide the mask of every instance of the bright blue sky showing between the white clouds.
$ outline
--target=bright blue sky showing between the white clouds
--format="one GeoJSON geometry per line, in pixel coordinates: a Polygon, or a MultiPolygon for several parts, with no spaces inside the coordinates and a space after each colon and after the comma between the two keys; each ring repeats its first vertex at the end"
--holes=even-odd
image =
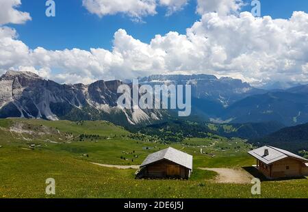
{"type": "MultiPolygon", "coordinates": [[[[242,11],[251,10],[251,1],[242,11]]],[[[125,29],[133,38],[149,43],[156,34],[177,31],[185,34],[185,30],[201,18],[196,14],[196,1],[190,0],[188,5],[171,16],[166,16],[166,8],[157,8],[157,14],[142,18],[143,23],[133,22],[123,14],[107,15],[99,18],[90,14],[82,6],[81,0],[55,0],[56,16],[45,16],[46,6],[43,0],[22,1],[21,11],[31,14],[32,21],[24,25],[11,25],[18,31],[19,38],[31,49],[44,47],[50,50],[61,49],[112,49],[114,33],[125,29]]],[[[261,15],[272,18],[290,18],[293,11],[308,12],[308,1],[304,0],[261,0],[261,15]]]]}

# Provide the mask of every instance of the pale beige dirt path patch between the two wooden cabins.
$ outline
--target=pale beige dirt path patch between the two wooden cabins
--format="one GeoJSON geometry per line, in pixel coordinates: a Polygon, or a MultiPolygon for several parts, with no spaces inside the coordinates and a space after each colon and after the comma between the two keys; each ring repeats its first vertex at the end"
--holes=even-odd
{"type": "Polygon", "coordinates": [[[218,173],[217,183],[251,183],[253,176],[244,170],[235,170],[230,168],[200,168],[201,170],[209,170],[218,173]]]}

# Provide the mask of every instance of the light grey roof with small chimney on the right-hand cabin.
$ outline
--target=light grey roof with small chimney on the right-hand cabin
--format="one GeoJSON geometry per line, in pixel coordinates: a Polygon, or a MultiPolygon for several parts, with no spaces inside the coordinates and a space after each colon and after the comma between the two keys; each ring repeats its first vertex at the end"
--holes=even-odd
{"type": "Polygon", "coordinates": [[[248,154],[252,155],[253,157],[259,159],[266,164],[274,163],[287,157],[299,159],[300,161],[308,161],[308,159],[300,157],[299,155],[295,155],[294,153],[290,153],[287,150],[283,150],[281,148],[276,148],[273,146],[262,146],[255,150],[249,151],[248,154]],[[264,151],[266,149],[268,149],[268,155],[264,155],[264,151]]]}

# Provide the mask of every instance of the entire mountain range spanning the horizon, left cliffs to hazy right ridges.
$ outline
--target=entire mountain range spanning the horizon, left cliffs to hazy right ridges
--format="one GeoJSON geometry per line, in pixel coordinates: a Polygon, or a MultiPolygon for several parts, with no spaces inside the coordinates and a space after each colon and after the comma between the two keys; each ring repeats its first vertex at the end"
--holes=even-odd
{"type": "MultiPolygon", "coordinates": [[[[214,75],[152,75],[139,81],[149,85],[192,85],[191,118],[207,122],[278,122],[281,126],[308,122],[308,85],[264,90],[240,79],[218,79],[214,75]]],[[[8,71],[0,77],[0,118],[109,120],[136,125],[173,116],[165,110],[118,107],[117,88],[122,84],[119,80],[101,80],[90,85],[62,85],[32,72],[8,71]]],[[[127,84],[131,86],[129,81],[127,84]]]]}

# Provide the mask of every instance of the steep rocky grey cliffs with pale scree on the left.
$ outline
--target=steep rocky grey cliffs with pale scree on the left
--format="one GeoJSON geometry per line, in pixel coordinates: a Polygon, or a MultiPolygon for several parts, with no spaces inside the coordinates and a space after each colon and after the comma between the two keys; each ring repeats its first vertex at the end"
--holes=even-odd
{"type": "Polygon", "coordinates": [[[90,85],[60,85],[32,72],[8,71],[0,77],[0,118],[102,119],[118,124],[151,123],[162,118],[157,110],[118,107],[117,88],[121,84],[96,81],[90,85]]]}

